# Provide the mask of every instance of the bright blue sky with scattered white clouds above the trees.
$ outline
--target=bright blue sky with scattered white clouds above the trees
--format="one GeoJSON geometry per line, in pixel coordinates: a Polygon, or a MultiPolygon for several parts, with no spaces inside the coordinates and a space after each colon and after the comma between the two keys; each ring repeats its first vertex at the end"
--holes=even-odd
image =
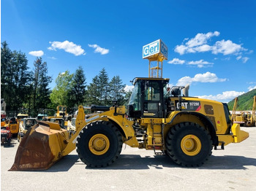
{"type": "MultiPolygon", "coordinates": [[[[256,88],[256,1],[1,0],[1,42],[59,73],[82,66],[87,84],[105,67],[131,85],[148,77],[142,47],[168,47],[163,77],[190,84],[189,95],[230,101],[256,88]]],[[[127,86],[128,87],[128,86],[127,86]]]]}

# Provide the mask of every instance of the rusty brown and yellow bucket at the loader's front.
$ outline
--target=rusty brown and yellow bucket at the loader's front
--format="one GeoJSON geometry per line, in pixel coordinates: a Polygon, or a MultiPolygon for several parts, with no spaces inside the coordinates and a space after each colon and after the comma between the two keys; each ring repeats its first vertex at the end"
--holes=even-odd
{"type": "Polygon", "coordinates": [[[68,154],[63,154],[68,143],[69,133],[59,124],[39,122],[23,136],[9,171],[46,170],[68,154]]]}

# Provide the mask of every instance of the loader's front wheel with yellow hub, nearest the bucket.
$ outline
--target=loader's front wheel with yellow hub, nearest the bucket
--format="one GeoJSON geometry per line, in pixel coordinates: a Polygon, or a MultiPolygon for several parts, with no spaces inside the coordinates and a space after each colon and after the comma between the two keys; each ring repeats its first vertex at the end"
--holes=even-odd
{"type": "Polygon", "coordinates": [[[80,160],[89,167],[106,167],[121,153],[122,136],[111,122],[97,121],[86,125],[77,140],[80,160]]]}

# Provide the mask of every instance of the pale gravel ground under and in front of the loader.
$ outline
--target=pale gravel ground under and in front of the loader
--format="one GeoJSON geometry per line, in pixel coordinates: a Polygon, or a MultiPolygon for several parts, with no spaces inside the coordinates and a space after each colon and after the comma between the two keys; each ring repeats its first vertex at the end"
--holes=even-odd
{"type": "Polygon", "coordinates": [[[256,190],[256,128],[241,128],[249,138],[230,144],[199,168],[181,168],[153,151],[123,147],[107,168],[87,168],[76,151],[47,171],[8,171],[18,141],[1,145],[1,190],[256,190]]]}

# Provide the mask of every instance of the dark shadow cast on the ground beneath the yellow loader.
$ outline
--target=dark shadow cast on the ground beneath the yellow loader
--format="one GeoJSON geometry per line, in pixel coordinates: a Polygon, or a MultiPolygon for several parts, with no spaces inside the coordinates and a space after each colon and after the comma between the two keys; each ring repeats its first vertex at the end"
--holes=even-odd
{"type": "MultiPolygon", "coordinates": [[[[113,163],[112,165],[106,168],[89,168],[84,163],[82,163],[78,155],[67,155],[62,158],[59,162],[49,168],[48,172],[56,172],[56,171],[68,171],[69,168],[72,168],[73,165],[84,165],[86,169],[95,169],[95,170],[146,170],[149,168],[184,168],[167,157],[165,155],[162,156],[146,156],[140,157],[140,155],[120,155],[120,157],[113,163]]],[[[200,167],[190,167],[190,169],[247,169],[246,165],[256,166],[256,159],[243,157],[243,156],[233,156],[233,155],[225,155],[225,156],[211,156],[206,163],[200,167]]]]}

